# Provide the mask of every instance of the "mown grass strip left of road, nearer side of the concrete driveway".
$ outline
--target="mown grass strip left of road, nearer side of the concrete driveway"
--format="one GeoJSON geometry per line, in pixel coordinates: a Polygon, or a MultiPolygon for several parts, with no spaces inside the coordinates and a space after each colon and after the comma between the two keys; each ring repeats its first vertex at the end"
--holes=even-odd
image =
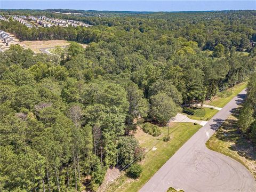
{"type": "Polygon", "coordinates": [[[113,185],[109,186],[107,191],[138,191],[200,127],[201,125],[192,123],[173,123],[170,127],[169,142],[163,141],[167,134],[167,127],[161,128],[162,134],[158,137],[153,137],[138,129],[135,137],[139,140],[140,145],[148,151],[145,159],[141,162],[143,167],[141,176],[139,179],[133,180],[122,175],[113,185]]]}

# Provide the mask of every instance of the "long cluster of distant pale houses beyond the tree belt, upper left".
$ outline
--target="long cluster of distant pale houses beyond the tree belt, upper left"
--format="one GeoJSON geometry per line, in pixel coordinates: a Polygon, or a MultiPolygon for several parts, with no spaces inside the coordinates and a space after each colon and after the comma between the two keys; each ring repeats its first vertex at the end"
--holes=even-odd
{"type": "Polygon", "coordinates": [[[27,26],[28,28],[31,27],[52,27],[52,26],[60,26],[60,27],[90,27],[91,25],[86,24],[82,21],[75,21],[75,20],[65,20],[65,19],[54,19],[54,18],[47,18],[45,16],[24,16],[24,15],[15,15],[13,16],[13,20],[19,21],[23,25],[27,26]]]}

